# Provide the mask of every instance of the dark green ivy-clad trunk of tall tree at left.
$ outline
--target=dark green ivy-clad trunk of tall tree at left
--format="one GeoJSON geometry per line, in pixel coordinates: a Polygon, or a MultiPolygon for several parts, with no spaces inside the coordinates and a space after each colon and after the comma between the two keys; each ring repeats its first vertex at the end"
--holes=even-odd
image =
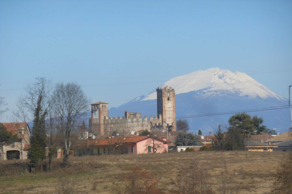
{"type": "Polygon", "coordinates": [[[41,108],[42,96],[40,95],[37,100],[37,107],[35,109],[32,136],[30,137],[30,149],[28,158],[30,159],[31,169],[34,171],[35,167],[38,166],[46,158],[46,129],[45,129],[45,117],[46,111],[42,113],[41,108]]]}

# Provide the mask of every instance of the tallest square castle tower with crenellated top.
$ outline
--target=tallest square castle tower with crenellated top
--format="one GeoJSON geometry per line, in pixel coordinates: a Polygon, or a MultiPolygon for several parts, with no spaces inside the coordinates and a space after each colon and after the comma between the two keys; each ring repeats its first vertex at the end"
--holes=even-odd
{"type": "Polygon", "coordinates": [[[163,129],[172,125],[176,130],[176,95],[173,88],[157,88],[157,115],[162,116],[163,129]]]}

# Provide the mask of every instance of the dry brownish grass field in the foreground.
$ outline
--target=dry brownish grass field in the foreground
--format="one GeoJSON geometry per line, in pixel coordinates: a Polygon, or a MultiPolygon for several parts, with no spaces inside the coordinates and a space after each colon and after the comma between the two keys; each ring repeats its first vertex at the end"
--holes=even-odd
{"type": "Polygon", "coordinates": [[[52,172],[26,172],[28,161],[0,161],[0,193],[124,193],[135,166],[160,179],[157,189],[170,193],[181,166],[204,166],[215,193],[269,193],[285,152],[183,152],[69,158],[67,168],[56,159],[52,172]],[[222,190],[223,182],[225,190],[222,190]]]}

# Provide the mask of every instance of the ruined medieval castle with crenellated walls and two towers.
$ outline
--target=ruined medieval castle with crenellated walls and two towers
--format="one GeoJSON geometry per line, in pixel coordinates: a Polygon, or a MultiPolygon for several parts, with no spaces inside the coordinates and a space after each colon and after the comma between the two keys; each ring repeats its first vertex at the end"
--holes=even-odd
{"type": "Polygon", "coordinates": [[[89,118],[90,132],[95,135],[121,135],[131,131],[166,131],[176,130],[176,97],[173,88],[157,88],[157,115],[147,118],[141,117],[141,113],[125,111],[125,116],[109,117],[108,103],[95,102],[91,104],[91,116],[89,118]]]}

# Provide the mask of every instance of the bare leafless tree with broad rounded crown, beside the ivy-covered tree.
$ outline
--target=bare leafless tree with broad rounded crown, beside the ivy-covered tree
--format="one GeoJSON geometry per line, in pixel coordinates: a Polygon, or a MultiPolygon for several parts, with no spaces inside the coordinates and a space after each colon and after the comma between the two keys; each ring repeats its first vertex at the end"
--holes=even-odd
{"type": "Polygon", "coordinates": [[[63,162],[68,162],[71,138],[77,126],[81,125],[82,117],[88,110],[89,100],[78,84],[57,84],[53,92],[54,111],[57,115],[60,133],[64,143],[63,162]]]}

